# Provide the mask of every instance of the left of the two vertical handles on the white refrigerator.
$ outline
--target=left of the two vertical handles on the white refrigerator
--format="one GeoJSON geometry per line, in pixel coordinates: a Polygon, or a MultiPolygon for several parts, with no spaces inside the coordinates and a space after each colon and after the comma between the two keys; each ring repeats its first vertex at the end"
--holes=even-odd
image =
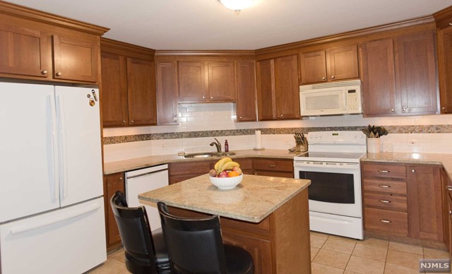
{"type": "Polygon", "coordinates": [[[55,150],[55,148],[57,148],[57,143],[55,142],[55,128],[57,127],[57,114],[56,114],[56,109],[54,108],[54,96],[53,95],[48,95],[47,96],[47,117],[49,119],[48,123],[50,125],[50,153],[52,155],[52,167],[53,167],[53,184],[51,184],[51,191],[53,193],[53,199],[54,201],[57,201],[59,198],[59,193],[58,193],[58,153],[57,150],[55,150]],[[53,186],[53,187],[52,187],[53,186]]]}

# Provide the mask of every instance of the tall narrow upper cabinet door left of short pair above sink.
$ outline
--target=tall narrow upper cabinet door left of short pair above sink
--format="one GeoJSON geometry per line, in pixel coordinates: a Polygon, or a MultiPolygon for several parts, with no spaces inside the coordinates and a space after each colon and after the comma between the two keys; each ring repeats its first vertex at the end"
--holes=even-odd
{"type": "Polygon", "coordinates": [[[158,124],[177,124],[177,63],[157,63],[157,121],[158,124]]]}

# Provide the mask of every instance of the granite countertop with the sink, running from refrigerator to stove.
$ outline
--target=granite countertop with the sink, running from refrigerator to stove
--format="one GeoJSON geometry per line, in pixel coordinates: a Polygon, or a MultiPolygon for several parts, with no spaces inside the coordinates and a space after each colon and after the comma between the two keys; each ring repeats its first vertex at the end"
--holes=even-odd
{"type": "MultiPolygon", "coordinates": [[[[272,158],[293,159],[295,155],[299,154],[299,153],[290,153],[288,150],[267,150],[267,149],[233,150],[230,152],[236,153],[235,155],[228,156],[231,157],[232,159],[244,157],[272,157],[272,158]]],[[[178,156],[177,154],[140,157],[117,162],[105,162],[104,174],[126,172],[133,169],[152,167],[153,165],[167,164],[169,162],[193,162],[193,161],[216,160],[220,158],[221,157],[184,158],[184,156],[178,156]]]]}

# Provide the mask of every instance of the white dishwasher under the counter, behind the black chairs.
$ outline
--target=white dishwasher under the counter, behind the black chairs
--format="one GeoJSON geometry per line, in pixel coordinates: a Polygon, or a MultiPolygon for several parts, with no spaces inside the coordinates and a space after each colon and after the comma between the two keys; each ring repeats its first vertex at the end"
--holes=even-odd
{"type": "MultiPolygon", "coordinates": [[[[138,202],[138,194],[160,189],[168,185],[168,165],[156,165],[143,169],[126,172],[126,200],[130,207],[142,205],[138,202]]],[[[148,213],[149,225],[151,230],[157,230],[160,224],[160,215],[157,205],[145,205],[148,213]]]]}

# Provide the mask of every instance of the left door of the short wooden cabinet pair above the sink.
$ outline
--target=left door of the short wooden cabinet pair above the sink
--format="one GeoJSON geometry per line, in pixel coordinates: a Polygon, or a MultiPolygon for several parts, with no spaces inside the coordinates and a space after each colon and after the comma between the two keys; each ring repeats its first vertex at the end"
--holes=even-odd
{"type": "Polygon", "coordinates": [[[206,102],[206,65],[179,62],[179,102],[206,102]]]}

